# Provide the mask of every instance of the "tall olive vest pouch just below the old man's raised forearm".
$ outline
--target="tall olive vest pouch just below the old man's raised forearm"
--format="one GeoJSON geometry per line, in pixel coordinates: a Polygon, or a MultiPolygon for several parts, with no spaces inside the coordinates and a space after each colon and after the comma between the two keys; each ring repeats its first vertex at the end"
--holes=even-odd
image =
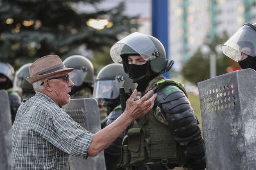
{"type": "Polygon", "coordinates": [[[145,163],[145,130],[143,128],[132,128],[128,130],[128,149],[131,153],[130,164],[134,166],[145,163]]]}

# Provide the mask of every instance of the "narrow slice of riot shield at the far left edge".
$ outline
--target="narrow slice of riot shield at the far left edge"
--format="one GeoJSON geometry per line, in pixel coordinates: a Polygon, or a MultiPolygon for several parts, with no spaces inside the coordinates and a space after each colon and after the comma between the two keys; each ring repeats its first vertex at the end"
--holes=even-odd
{"type": "Polygon", "coordinates": [[[11,169],[11,111],[6,90],[0,90],[0,170],[11,169]]]}

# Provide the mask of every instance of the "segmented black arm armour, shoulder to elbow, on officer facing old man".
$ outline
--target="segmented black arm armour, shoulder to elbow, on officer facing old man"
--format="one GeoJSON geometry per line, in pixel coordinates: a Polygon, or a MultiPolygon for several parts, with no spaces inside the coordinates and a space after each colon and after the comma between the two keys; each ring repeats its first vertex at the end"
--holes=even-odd
{"type": "Polygon", "coordinates": [[[156,105],[164,112],[177,142],[190,141],[201,134],[188,98],[179,87],[162,86],[156,92],[156,105]]]}

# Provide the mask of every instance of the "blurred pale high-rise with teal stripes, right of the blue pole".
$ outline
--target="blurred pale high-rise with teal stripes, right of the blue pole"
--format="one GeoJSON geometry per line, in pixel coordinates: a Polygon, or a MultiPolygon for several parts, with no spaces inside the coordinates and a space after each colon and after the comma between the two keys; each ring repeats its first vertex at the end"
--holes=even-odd
{"type": "Polygon", "coordinates": [[[233,35],[246,22],[256,22],[256,0],[170,0],[169,59],[174,69],[182,65],[204,44],[227,31],[233,35]]]}

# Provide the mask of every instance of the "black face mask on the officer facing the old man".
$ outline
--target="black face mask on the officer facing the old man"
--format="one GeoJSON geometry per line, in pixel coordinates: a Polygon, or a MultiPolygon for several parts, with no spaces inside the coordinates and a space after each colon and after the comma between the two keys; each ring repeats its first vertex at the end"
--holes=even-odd
{"type": "Polygon", "coordinates": [[[143,65],[128,64],[129,74],[133,83],[138,83],[147,73],[147,63],[143,65]]]}

